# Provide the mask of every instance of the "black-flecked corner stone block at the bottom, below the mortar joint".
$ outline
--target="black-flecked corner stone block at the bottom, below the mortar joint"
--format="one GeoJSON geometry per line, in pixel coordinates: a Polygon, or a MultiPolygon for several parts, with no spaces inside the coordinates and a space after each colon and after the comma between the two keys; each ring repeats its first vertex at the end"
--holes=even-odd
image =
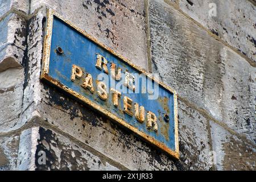
{"type": "Polygon", "coordinates": [[[22,131],[19,170],[118,170],[63,135],[43,127],[22,131]]]}

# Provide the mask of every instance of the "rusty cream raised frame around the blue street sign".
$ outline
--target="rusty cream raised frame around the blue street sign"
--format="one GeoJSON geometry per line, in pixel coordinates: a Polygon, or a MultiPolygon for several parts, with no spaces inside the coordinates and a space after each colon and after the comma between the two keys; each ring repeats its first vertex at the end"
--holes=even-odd
{"type": "Polygon", "coordinates": [[[72,22],[69,20],[66,20],[61,16],[60,14],[56,13],[56,11],[52,9],[47,9],[47,26],[46,26],[46,35],[44,36],[44,46],[43,46],[43,61],[42,61],[42,72],[40,75],[40,79],[43,81],[47,81],[55,86],[57,88],[60,88],[61,90],[64,90],[68,94],[71,94],[71,96],[79,99],[81,102],[92,106],[93,109],[96,109],[97,111],[100,111],[100,113],[103,113],[108,118],[112,119],[113,121],[121,124],[122,126],[125,126],[127,129],[130,129],[135,134],[142,137],[144,140],[146,140],[149,143],[154,144],[156,147],[159,147],[163,151],[167,152],[171,156],[173,156],[176,159],[179,159],[179,140],[178,140],[178,119],[177,119],[177,93],[174,89],[170,88],[170,86],[164,84],[163,82],[160,82],[158,80],[155,80],[154,77],[152,77],[149,73],[146,73],[143,69],[139,68],[137,65],[134,65],[131,63],[131,61],[125,59],[123,56],[119,55],[118,53],[114,52],[109,47],[106,47],[104,44],[99,42],[97,39],[90,36],[86,31],[82,30],[81,28],[75,26],[72,22]],[[101,106],[94,104],[88,98],[85,98],[84,96],[81,96],[81,94],[75,92],[74,90],[68,88],[67,86],[61,84],[59,81],[51,78],[51,76],[48,75],[49,73],[49,61],[50,61],[50,52],[51,52],[51,38],[52,38],[52,27],[53,27],[53,16],[56,16],[57,18],[61,19],[63,22],[67,23],[68,26],[74,28],[76,31],[80,32],[80,34],[84,35],[89,40],[93,41],[94,43],[98,44],[98,46],[104,48],[106,51],[109,51],[114,56],[117,56],[120,60],[124,61],[126,64],[128,64],[130,67],[133,67],[135,70],[137,70],[139,73],[142,73],[146,75],[147,77],[151,78],[155,82],[158,82],[159,85],[163,86],[163,88],[167,89],[171,93],[174,94],[174,125],[175,125],[175,151],[171,150],[167,146],[165,146],[162,142],[159,142],[153,137],[148,136],[147,134],[143,133],[142,131],[139,131],[136,127],[129,125],[129,123],[123,121],[123,119],[117,117],[116,115],[110,113],[108,110],[105,110],[101,106]]]}

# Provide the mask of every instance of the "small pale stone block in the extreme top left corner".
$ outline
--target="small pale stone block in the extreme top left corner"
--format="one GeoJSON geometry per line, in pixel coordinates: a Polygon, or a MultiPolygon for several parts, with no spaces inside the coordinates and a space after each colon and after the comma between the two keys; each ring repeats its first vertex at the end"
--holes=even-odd
{"type": "Polygon", "coordinates": [[[29,2],[28,0],[0,0],[0,18],[11,9],[28,14],[29,2]]]}

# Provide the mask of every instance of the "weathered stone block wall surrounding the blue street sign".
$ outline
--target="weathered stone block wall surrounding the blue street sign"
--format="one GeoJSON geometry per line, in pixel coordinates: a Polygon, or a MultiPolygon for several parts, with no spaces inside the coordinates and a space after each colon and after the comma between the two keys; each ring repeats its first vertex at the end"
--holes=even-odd
{"type": "Polygon", "coordinates": [[[0,0],[0,170],[255,170],[255,8],[0,0]],[[39,80],[48,8],[177,90],[180,160],[39,80]]]}

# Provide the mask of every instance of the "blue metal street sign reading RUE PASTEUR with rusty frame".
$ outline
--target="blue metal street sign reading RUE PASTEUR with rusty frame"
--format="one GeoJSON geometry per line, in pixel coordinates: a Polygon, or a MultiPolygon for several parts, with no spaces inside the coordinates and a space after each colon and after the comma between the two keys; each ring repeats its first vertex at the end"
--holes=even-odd
{"type": "Polygon", "coordinates": [[[179,159],[176,92],[53,10],[41,79],[179,159]]]}

